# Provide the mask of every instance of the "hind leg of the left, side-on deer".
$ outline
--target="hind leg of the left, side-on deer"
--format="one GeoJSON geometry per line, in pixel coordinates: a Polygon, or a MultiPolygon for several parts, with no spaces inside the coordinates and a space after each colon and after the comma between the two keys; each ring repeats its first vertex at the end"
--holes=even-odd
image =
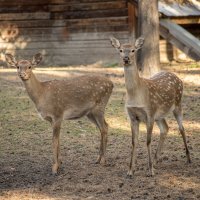
{"type": "Polygon", "coordinates": [[[107,134],[108,134],[108,124],[105,121],[104,114],[102,111],[93,111],[87,115],[88,119],[93,122],[101,133],[100,150],[99,157],[96,163],[106,164],[105,153],[107,146],[107,134]]]}

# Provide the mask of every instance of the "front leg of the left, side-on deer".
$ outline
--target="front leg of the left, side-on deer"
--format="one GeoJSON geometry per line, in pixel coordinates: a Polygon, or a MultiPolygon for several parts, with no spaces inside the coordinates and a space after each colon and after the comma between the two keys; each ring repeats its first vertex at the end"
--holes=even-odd
{"type": "Polygon", "coordinates": [[[61,121],[57,121],[53,123],[53,166],[52,166],[52,174],[57,174],[58,168],[61,163],[60,159],[60,127],[61,121]]]}

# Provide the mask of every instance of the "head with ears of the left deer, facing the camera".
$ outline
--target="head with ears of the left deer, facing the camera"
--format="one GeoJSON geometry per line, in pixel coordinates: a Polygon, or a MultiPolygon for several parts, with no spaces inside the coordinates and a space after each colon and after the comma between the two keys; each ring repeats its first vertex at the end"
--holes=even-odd
{"type": "Polygon", "coordinates": [[[32,69],[37,66],[41,60],[42,55],[37,53],[32,61],[29,60],[19,60],[17,61],[16,58],[11,54],[5,54],[6,62],[12,66],[17,68],[18,76],[23,80],[26,81],[31,77],[32,69]]]}

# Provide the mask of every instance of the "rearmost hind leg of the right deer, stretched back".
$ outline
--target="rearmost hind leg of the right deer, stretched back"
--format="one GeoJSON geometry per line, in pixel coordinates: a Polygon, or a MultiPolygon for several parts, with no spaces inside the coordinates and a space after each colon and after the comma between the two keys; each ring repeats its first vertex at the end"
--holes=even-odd
{"type": "Polygon", "coordinates": [[[189,152],[189,149],[188,149],[188,146],[187,146],[187,142],[186,142],[186,135],[185,135],[185,129],[183,127],[183,123],[182,123],[182,108],[181,106],[176,106],[174,111],[174,117],[176,118],[176,121],[178,123],[178,126],[179,126],[179,131],[182,135],[182,138],[183,138],[183,142],[184,142],[184,145],[185,145],[185,151],[186,151],[186,157],[187,157],[187,162],[188,163],[191,163],[191,159],[190,159],[190,152],[189,152]]]}

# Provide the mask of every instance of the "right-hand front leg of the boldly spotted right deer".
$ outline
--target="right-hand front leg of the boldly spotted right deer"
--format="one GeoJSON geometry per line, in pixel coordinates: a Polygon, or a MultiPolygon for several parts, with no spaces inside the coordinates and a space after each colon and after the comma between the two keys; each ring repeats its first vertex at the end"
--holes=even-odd
{"type": "Polygon", "coordinates": [[[154,168],[152,162],[152,151],[151,151],[151,136],[153,131],[153,121],[147,122],[147,150],[148,150],[148,164],[149,164],[149,172],[150,176],[154,176],[154,168]]]}

